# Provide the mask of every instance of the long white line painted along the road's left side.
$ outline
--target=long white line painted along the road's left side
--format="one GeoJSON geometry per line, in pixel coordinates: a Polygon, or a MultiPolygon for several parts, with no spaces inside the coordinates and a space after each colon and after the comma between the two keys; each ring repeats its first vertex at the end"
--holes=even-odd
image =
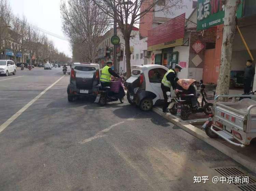
{"type": "Polygon", "coordinates": [[[27,103],[23,108],[18,110],[16,114],[14,114],[12,117],[10,117],[7,121],[5,121],[1,126],[0,126],[0,133],[8,127],[17,117],[19,117],[29,106],[31,106],[35,101],[37,101],[46,91],[48,91],[50,88],[52,88],[56,83],[58,83],[64,76],[60,77],[56,82],[54,82],[51,86],[47,87],[44,91],[42,91],[37,97],[32,99],[29,103],[27,103]]]}

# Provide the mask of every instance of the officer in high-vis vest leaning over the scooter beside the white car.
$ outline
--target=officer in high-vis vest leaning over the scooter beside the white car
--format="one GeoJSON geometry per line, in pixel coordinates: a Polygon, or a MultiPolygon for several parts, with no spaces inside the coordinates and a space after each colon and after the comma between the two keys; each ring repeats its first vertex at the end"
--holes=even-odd
{"type": "Polygon", "coordinates": [[[165,76],[163,76],[162,83],[161,83],[161,89],[163,91],[163,97],[165,98],[165,103],[163,104],[163,112],[167,112],[167,107],[169,103],[167,102],[168,96],[166,95],[167,91],[175,90],[176,82],[179,80],[177,78],[177,73],[180,72],[183,68],[176,64],[174,69],[168,70],[166,72],[165,76]]]}

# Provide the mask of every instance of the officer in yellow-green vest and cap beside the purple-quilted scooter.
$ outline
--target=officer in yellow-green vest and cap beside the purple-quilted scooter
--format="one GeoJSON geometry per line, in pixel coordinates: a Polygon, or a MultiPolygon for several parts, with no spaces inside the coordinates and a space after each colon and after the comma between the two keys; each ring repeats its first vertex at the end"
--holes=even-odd
{"type": "Polygon", "coordinates": [[[120,77],[111,69],[112,64],[112,61],[107,61],[106,66],[101,69],[100,83],[102,87],[110,86],[111,75],[115,77],[120,77]]]}

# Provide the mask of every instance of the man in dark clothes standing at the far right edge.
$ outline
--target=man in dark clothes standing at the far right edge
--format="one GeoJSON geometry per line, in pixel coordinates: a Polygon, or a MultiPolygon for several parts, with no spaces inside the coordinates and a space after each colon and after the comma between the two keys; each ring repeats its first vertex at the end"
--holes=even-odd
{"type": "Polygon", "coordinates": [[[250,93],[252,90],[252,82],[255,74],[255,68],[252,66],[253,61],[247,60],[244,71],[244,93],[250,93]]]}

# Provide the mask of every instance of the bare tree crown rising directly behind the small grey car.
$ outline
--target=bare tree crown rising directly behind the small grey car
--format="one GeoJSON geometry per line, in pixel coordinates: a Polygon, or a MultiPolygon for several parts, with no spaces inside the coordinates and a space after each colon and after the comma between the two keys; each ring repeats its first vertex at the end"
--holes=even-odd
{"type": "Polygon", "coordinates": [[[70,38],[73,52],[86,45],[83,61],[94,62],[101,36],[108,30],[110,17],[93,0],[69,0],[60,5],[62,29],[70,38]]]}

